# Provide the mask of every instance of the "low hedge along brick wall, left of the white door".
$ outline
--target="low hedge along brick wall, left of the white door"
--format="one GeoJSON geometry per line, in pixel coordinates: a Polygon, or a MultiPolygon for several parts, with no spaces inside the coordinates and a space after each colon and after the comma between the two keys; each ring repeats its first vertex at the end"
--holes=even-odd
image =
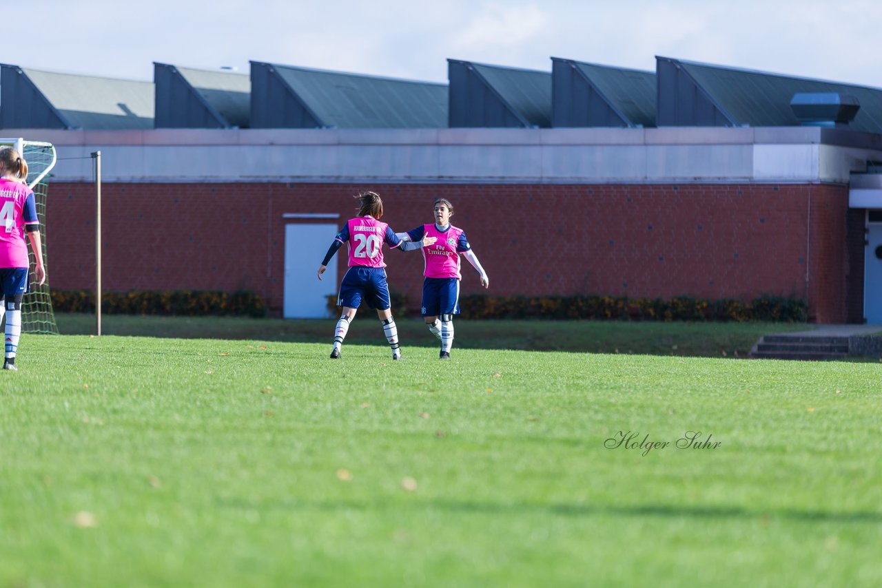
{"type": "MultiPolygon", "coordinates": [[[[91,290],[52,290],[56,312],[94,312],[91,290]]],[[[102,292],[101,312],[108,315],[266,316],[264,299],[253,292],[206,290],[102,292]]]]}

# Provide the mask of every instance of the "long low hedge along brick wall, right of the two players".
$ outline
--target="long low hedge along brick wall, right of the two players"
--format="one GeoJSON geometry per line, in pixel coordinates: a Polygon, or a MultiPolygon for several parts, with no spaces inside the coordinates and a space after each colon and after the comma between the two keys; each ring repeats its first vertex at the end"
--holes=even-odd
{"type": "Polygon", "coordinates": [[[804,323],[805,301],[781,296],[760,296],[752,301],[716,300],[678,296],[618,298],[614,296],[462,296],[464,318],[550,318],[624,321],[768,321],[804,323]]]}

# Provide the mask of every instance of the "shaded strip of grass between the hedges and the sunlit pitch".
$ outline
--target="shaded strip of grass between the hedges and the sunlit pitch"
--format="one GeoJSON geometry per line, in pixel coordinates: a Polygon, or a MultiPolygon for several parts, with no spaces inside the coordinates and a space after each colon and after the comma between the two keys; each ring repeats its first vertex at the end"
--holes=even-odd
{"type": "MultiPolygon", "coordinates": [[[[58,314],[65,335],[94,332],[93,315],[58,314]]],[[[642,354],[745,357],[760,337],[804,331],[804,324],[773,323],[627,323],[621,321],[467,320],[454,321],[458,349],[566,351],[592,354],[642,354]]],[[[104,335],[171,339],[232,339],[285,343],[333,340],[335,319],[285,320],[230,316],[125,316],[103,319],[104,335]]],[[[396,320],[401,345],[437,347],[420,318],[396,320]]],[[[346,345],[385,346],[376,317],[360,316],[349,327],[346,345]]]]}

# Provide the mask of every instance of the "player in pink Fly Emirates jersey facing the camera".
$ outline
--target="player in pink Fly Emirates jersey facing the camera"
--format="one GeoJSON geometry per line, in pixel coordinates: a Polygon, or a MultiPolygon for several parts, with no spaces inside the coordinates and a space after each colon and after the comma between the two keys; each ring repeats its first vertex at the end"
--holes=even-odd
{"type": "Polygon", "coordinates": [[[453,205],[446,198],[435,201],[433,214],[435,222],[430,225],[416,227],[398,236],[402,241],[425,241],[435,237],[437,241],[422,248],[425,258],[425,280],[422,282],[422,316],[429,325],[429,330],[441,339],[442,360],[450,359],[453,345],[453,315],[460,314],[460,253],[481,276],[481,285],[490,287],[490,278],[481,267],[481,262],[468,244],[466,233],[460,227],[453,227],[450,218],[453,216],[453,205]],[[441,317],[440,322],[438,316],[441,317]]]}

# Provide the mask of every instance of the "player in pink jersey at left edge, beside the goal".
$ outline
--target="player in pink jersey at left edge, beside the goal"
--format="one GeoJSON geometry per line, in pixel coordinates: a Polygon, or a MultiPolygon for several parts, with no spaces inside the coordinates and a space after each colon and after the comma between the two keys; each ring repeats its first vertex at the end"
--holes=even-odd
{"type": "Polygon", "coordinates": [[[3,304],[0,317],[6,315],[6,348],[4,369],[16,370],[15,356],[21,336],[21,300],[30,291],[27,276],[29,262],[25,233],[34,251],[34,280],[42,286],[46,281],[43,269],[43,248],[40,220],[34,204],[34,192],[27,187],[27,163],[21,153],[11,147],[0,148],[0,287],[3,304]]]}

